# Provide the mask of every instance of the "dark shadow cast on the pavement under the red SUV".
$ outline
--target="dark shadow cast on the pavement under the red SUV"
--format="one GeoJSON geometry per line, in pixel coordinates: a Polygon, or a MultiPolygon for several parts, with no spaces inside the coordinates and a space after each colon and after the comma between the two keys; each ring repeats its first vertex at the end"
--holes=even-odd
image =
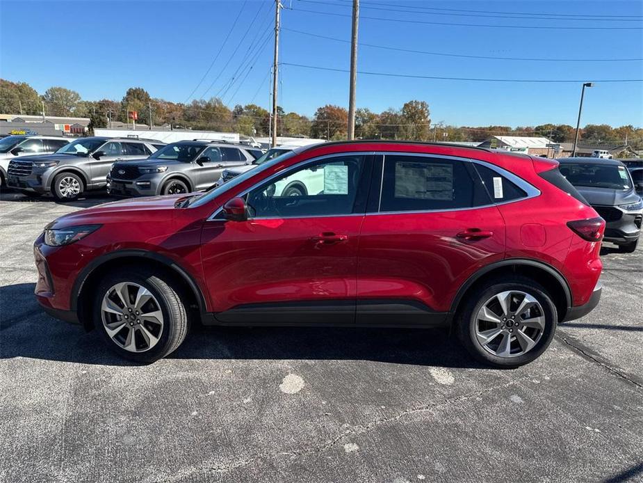
{"type": "MultiPolygon", "coordinates": [[[[0,287],[0,358],[136,365],[113,354],[97,331],[60,322],[33,297],[33,283],[0,287]]],[[[345,327],[204,327],[195,324],[172,359],[364,360],[482,368],[446,330],[345,327]]]]}

